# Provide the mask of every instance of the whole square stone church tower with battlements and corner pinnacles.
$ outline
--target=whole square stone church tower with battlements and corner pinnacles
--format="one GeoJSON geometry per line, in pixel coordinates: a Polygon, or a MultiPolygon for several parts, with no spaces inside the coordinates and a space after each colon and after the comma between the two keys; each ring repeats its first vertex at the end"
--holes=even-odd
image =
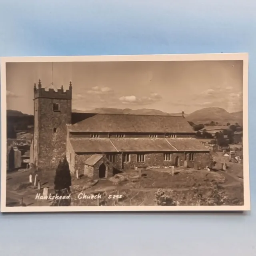
{"type": "Polygon", "coordinates": [[[36,169],[55,169],[66,155],[66,124],[71,124],[72,84],[64,91],[34,84],[34,138],[30,162],[36,169]]]}

